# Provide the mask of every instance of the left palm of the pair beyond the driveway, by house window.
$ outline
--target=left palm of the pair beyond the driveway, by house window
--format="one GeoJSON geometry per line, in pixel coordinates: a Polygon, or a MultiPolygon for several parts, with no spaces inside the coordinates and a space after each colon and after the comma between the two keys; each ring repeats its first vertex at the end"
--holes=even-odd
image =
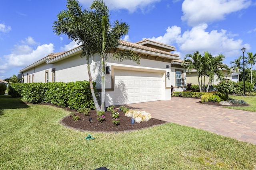
{"type": "Polygon", "coordinates": [[[199,51],[194,52],[194,54],[187,54],[182,62],[182,66],[188,70],[189,74],[191,74],[193,69],[197,71],[199,90],[200,92],[202,92],[199,78],[203,74],[203,69],[202,69],[203,65],[202,65],[202,55],[200,55],[199,51]]]}

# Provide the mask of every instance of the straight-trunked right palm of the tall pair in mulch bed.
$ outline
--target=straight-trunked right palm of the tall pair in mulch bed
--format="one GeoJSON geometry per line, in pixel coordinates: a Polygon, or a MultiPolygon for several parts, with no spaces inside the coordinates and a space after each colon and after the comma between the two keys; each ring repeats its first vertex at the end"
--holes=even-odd
{"type": "Polygon", "coordinates": [[[98,33],[98,46],[96,47],[97,52],[101,58],[101,78],[102,78],[102,110],[105,111],[105,63],[108,61],[109,57],[122,61],[123,59],[128,59],[140,64],[140,57],[133,51],[119,51],[114,53],[114,55],[109,56],[111,49],[117,49],[119,45],[119,40],[122,36],[126,35],[129,30],[129,25],[124,22],[114,21],[113,26],[110,23],[110,14],[108,7],[105,5],[103,0],[95,0],[92,2],[90,9],[95,12],[95,23],[97,25],[98,33]]]}

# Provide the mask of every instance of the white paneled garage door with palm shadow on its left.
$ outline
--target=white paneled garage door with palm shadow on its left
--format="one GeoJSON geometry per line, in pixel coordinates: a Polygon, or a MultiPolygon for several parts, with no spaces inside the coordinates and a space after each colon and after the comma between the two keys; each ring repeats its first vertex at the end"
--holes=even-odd
{"type": "Polygon", "coordinates": [[[162,100],[162,73],[114,70],[114,105],[162,100]]]}

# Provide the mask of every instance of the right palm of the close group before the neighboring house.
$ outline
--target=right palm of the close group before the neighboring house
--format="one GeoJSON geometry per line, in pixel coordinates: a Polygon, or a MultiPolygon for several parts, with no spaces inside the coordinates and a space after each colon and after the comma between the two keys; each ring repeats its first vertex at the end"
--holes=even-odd
{"type": "Polygon", "coordinates": [[[223,64],[225,56],[222,54],[213,57],[211,53],[208,53],[206,51],[204,52],[204,56],[206,56],[206,59],[208,61],[206,70],[206,76],[209,78],[209,82],[206,89],[206,92],[208,92],[210,84],[214,80],[214,76],[217,75],[217,80],[222,80],[224,78],[223,70],[227,70],[228,74],[230,74],[230,68],[226,64],[223,64]]]}

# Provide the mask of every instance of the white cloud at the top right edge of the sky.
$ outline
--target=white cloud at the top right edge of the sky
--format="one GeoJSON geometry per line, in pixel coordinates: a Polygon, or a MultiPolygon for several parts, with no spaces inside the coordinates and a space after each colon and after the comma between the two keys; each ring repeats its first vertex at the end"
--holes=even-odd
{"type": "Polygon", "coordinates": [[[246,9],[250,4],[250,0],[184,0],[181,19],[192,26],[224,20],[227,14],[246,9]]]}

